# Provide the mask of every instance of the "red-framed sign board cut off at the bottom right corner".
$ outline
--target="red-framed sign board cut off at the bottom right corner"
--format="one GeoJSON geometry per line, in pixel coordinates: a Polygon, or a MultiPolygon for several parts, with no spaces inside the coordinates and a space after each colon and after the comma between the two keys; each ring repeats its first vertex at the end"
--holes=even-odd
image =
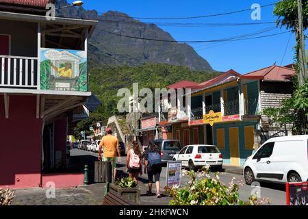
{"type": "Polygon", "coordinates": [[[287,205],[308,205],[308,182],[286,183],[287,205]]]}

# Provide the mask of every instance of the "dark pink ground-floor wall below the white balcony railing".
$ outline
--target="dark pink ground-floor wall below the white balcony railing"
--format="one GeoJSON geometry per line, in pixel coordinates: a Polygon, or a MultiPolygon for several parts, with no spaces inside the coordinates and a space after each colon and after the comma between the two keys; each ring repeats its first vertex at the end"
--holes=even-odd
{"type": "Polygon", "coordinates": [[[10,96],[5,118],[0,95],[0,188],[40,184],[42,120],[36,118],[36,96],[10,96]]]}

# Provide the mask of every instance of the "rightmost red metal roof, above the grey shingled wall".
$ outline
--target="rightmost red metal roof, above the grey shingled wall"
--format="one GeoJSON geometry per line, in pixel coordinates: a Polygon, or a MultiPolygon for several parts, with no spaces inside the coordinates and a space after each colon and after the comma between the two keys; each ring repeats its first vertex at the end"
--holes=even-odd
{"type": "Polygon", "coordinates": [[[264,79],[264,81],[290,81],[294,75],[292,68],[276,64],[242,75],[242,79],[264,79]]]}

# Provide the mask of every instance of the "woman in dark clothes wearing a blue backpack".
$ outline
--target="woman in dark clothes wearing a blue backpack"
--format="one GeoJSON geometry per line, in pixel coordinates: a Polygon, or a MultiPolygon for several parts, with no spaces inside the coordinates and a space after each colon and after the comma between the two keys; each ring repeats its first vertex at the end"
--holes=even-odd
{"type": "Polygon", "coordinates": [[[159,177],[160,172],[162,172],[162,157],[160,156],[159,147],[153,140],[151,140],[144,155],[144,173],[146,172],[148,172],[149,178],[149,191],[147,191],[146,194],[152,194],[152,183],[154,177],[156,185],[156,197],[160,198],[161,195],[159,193],[159,177]]]}

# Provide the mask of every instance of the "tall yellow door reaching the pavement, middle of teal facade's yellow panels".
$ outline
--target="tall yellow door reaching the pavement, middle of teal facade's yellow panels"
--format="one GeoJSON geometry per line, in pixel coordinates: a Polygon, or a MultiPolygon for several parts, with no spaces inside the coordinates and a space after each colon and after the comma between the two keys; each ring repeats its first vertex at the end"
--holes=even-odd
{"type": "Polygon", "coordinates": [[[240,152],[238,145],[238,127],[229,128],[230,163],[240,166],[240,152]]]}

